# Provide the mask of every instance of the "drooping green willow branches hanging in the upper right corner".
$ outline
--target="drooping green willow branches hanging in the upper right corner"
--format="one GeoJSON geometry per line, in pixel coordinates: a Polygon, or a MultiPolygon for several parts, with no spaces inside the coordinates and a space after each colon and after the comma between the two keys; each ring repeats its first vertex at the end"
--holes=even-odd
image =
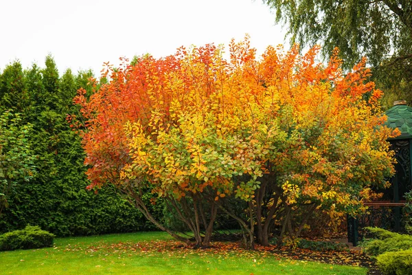
{"type": "Polygon", "coordinates": [[[286,23],[291,43],[320,44],[323,57],[335,47],[350,69],[363,56],[374,67],[373,79],[385,91],[383,106],[412,102],[412,4],[400,1],[264,0],[277,23],[286,23]]]}

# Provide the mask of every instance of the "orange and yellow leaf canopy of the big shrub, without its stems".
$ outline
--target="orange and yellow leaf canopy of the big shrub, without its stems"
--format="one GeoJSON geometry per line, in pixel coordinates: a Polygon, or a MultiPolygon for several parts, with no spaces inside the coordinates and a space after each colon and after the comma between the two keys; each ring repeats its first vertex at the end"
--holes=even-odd
{"type": "Polygon", "coordinates": [[[290,204],[347,204],[340,193],[347,184],[390,170],[393,155],[385,140],[397,133],[377,127],[385,120],[376,115],[380,91],[364,84],[361,66],[344,77],[337,56],[327,67],[315,62],[317,47],[305,56],[297,47],[269,47],[258,59],[248,39],[231,43],[231,61],[221,48],[202,49],[150,58],[106,85],[116,91],[118,98],[109,99],[119,108],[102,105],[99,115],[110,111],[107,121],[124,129],[109,131],[122,137],[116,142],[128,154],[127,164],[113,165],[124,167],[122,178],[145,177],[176,197],[210,186],[220,189],[216,199],[236,192],[250,201],[258,180],[276,175],[289,180],[274,184],[290,204]],[[373,105],[364,94],[371,94],[373,105]]]}

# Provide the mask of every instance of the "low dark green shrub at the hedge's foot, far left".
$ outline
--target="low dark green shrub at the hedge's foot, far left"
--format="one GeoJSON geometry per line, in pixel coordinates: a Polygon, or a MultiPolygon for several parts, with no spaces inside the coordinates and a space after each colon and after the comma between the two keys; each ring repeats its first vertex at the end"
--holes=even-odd
{"type": "Polygon", "coordinates": [[[46,248],[53,245],[53,239],[54,234],[41,230],[38,226],[27,225],[23,230],[0,235],[0,251],[46,248]]]}

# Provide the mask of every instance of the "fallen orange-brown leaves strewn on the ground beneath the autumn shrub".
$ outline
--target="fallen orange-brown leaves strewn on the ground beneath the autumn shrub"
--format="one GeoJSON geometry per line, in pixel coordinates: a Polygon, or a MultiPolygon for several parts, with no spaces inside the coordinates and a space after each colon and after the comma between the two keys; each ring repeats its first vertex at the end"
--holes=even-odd
{"type": "Polygon", "coordinates": [[[286,263],[306,263],[307,261],[317,261],[320,263],[336,265],[352,265],[360,267],[373,267],[374,263],[369,256],[359,251],[343,252],[319,252],[306,249],[277,248],[275,245],[261,246],[256,245],[255,250],[245,250],[239,243],[214,242],[209,248],[194,248],[184,245],[179,241],[144,241],[144,242],[119,242],[119,243],[98,243],[87,248],[70,246],[65,252],[84,250],[84,254],[104,257],[117,256],[117,259],[130,256],[156,256],[164,254],[165,256],[174,256],[175,258],[185,259],[187,255],[204,257],[214,257],[217,259],[228,259],[231,257],[251,259],[253,264],[260,265],[268,257],[275,258],[286,263]]]}

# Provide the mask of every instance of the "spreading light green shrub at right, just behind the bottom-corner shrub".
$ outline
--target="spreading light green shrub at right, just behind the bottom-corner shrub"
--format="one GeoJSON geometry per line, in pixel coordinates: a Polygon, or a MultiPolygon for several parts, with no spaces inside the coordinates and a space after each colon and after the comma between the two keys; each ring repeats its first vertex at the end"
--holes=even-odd
{"type": "Polygon", "coordinates": [[[412,236],[389,232],[382,228],[367,228],[376,239],[363,243],[365,252],[371,256],[378,256],[385,252],[412,249],[412,236]]]}

